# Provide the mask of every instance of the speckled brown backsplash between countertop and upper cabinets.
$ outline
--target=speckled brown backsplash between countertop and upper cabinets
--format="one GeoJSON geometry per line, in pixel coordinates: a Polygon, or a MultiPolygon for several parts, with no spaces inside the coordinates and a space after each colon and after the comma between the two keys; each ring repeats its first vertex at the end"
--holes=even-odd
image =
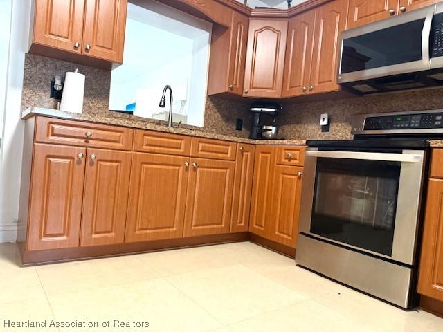
{"type": "MultiPolygon", "coordinates": [[[[110,71],[31,54],[27,54],[25,58],[22,108],[35,106],[56,109],[57,101],[49,97],[51,80],[55,75],[64,77],[66,71],[75,71],[75,68],[86,75],[84,113],[110,116],[110,71]]],[[[206,98],[204,131],[247,137],[251,122],[248,108],[248,100],[235,102],[215,97],[206,98]],[[243,119],[242,131],[235,130],[237,118],[243,119]]],[[[350,139],[350,120],[353,114],[423,109],[443,109],[443,89],[284,106],[278,115],[277,124],[280,126],[280,136],[287,139],[350,139]],[[327,133],[322,133],[318,125],[321,113],[329,113],[331,118],[330,131],[327,133]]]]}

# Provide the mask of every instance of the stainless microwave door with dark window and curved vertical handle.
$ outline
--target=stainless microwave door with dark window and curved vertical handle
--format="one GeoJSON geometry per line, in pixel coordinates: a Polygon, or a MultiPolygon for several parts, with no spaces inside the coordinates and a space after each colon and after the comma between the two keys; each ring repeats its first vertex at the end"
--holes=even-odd
{"type": "Polygon", "coordinates": [[[341,34],[338,83],[425,71],[435,5],[341,34]]]}

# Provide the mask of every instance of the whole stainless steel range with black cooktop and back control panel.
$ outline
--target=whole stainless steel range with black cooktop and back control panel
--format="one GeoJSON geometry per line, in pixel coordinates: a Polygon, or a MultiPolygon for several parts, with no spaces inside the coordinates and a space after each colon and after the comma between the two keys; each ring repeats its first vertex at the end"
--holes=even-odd
{"type": "Polygon", "coordinates": [[[425,136],[443,110],[355,116],[354,140],[308,141],[296,262],[413,306],[425,136]]]}

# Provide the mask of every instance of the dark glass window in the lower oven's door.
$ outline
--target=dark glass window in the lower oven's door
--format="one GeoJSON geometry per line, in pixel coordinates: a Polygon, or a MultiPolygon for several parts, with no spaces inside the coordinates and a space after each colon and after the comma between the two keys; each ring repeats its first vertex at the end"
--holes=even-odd
{"type": "Polygon", "coordinates": [[[318,158],[311,233],[390,256],[400,166],[318,158]]]}

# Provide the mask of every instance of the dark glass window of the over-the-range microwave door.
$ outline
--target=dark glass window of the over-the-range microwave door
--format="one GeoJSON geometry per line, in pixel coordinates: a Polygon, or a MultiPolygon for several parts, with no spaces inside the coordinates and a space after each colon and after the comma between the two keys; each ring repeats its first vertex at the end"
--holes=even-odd
{"type": "Polygon", "coordinates": [[[406,64],[422,59],[424,19],[343,40],[340,73],[406,64]]]}

